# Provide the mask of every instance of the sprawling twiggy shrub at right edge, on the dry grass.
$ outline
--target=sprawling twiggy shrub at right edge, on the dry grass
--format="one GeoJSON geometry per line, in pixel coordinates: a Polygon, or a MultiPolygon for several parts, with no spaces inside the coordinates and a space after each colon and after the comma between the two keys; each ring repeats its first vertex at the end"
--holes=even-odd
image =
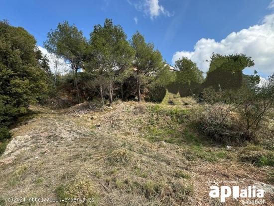
{"type": "Polygon", "coordinates": [[[243,84],[234,92],[207,88],[200,100],[207,103],[200,123],[208,135],[225,142],[255,140],[265,115],[274,105],[274,75],[261,87],[243,84]]]}

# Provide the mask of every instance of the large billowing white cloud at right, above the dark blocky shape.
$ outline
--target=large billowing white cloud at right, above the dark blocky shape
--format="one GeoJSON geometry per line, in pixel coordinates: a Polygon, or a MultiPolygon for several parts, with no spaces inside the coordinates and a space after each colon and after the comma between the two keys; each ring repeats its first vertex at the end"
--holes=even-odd
{"type": "Polygon", "coordinates": [[[252,70],[256,69],[266,76],[272,74],[274,72],[274,13],[265,16],[262,24],[232,32],[219,42],[215,39],[202,38],[196,42],[193,51],[175,52],[172,63],[186,56],[206,72],[209,62],[205,60],[210,60],[212,52],[223,55],[244,53],[251,56],[255,62],[252,70]]]}

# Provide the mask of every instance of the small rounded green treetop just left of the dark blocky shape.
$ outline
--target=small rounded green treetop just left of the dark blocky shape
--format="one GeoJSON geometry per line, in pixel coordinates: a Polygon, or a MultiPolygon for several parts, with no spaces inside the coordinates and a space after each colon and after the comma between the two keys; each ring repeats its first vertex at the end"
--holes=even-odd
{"type": "Polygon", "coordinates": [[[178,83],[202,83],[204,79],[203,72],[199,70],[197,65],[187,57],[182,57],[181,59],[177,60],[175,63],[175,68],[179,70],[179,72],[176,73],[178,83]]]}

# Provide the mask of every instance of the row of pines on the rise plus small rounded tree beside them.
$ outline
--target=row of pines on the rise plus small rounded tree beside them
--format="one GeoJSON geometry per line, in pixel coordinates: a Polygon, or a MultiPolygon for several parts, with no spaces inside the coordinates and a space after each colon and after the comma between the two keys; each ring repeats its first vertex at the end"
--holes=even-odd
{"type": "Polygon", "coordinates": [[[137,97],[138,101],[146,97],[158,101],[159,98],[153,97],[157,94],[151,93],[165,90],[174,81],[188,85],[203,81],[203,73],[185,57],[176,62],[176,74],[169,74],[169,66],[153,43],[146,42],[138,31],[128,39],[122,26],[115,25],[111,19],[106,19],[104,25],[95,25],[89,39],[74,24],[59,23],[48,33],[44,46],[71,65],[77,102],[84,100],[79,92],[80,84],[100,96],[102,110],[105,98],[109,106],[114,97],[123,100],[137,97]]]}

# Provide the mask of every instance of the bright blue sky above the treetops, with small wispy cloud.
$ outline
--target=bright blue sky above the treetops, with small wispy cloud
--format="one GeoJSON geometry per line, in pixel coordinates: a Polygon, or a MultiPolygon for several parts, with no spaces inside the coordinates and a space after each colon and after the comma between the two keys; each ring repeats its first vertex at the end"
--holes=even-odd
{"type": "MultiPolygon", "coordinates": [[[[232,32],[249,29],[256,24],[264,24],[266,16],[273,13],[274,6],[271,6],[271,2],[273,1],[0,0],[0,19],[8,19],[11,25],[24,27],[34,35],[37,44],[42,46],[47,32],[55,28],[58,22],[68,20],[69,23],[75,23],[84,35],[89,37],[94,24],[103,24],[105,18],[112,18],[115,24],[122,25],[129,38],[136,30],[141,32],[146,41],[153,42],[161,51],[168,63],[173,64],[176,58],[186,55],[196,61],[198,66],[206,67],[201,62],[206,60],[202,58],[208,58],[208,56],[205,55],[197,60],[197,56],[201,55],[195,51],[194,46],[201,43],[206,46],[209,41],[199,40],[214,39],[218,43],[232,32]],[[194,53],[191,53],[193,51],[194,53]]],[[[273,19],[269,20],[269,24],[273,19]]],[[[239,42],[243,39],[234,39],[235,41],[239,42]]],[[[210,42],[212,47],[212,41],[210,42]]],[[[219,47],[216,52],[220,50],[219,47]]],[[[214,50],[214,47],[212,49],[214,50]]],[[[212,53],[212,49],[207,52],[212,53]]],[[[220,50],[220,53],[226,54],[225,50],[228,49],[220,50]]],[[[249,51],[245,49],[239,53],[242,51],[247,51],[249,54],[249,51]]],[[[238,51],[233,49],[231,52],[238,51]]],[[[262,60],[264,57],[260,58],[262,60]]],[[[262,71],[260,68],[256,69],[263,76],[274,71],[274,69],[261,67],[262,71]]],[[[206,68],[202,69],[206,71],[206,68]]]]}

